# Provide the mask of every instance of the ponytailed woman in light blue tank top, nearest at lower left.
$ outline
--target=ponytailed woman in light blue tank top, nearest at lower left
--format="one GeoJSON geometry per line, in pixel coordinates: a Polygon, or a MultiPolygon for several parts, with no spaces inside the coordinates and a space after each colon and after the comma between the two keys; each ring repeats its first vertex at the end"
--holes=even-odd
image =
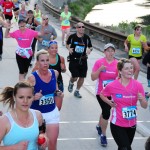
{"type": "MultiPolygon", "coordinates": [[[[0,102],[11,109],[0,117],[0,149],[38,150],[37,139],[43,118],[40,111],[29,109],[33,101],[33,87],[27,82],[18,82],[14,87],[6,87],[0,102]]],[[[45,136],[43,134],[43,136],[45,136]]],[[[47,140],[42,147],[46,147],[47,140]]]]}

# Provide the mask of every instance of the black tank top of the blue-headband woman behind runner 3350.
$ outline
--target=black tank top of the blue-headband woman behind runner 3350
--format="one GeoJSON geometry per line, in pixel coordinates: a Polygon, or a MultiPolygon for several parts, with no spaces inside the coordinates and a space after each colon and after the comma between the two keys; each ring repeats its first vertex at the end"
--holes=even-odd
{"type": "MultiPolygon", "coordinates": [[[[54,70],[57,70],[59,75],[58,75],[58,78],[57,78],[57,82],[63,82],[63,79],[62,79],[62,74],[61,74],[61,59],[60,59],[60,56],[57,54],[56,55],[56,58],[58,57],[58,61],[56,62],[56,64],[49,64],[49,69],[54,69],[54,70]]],[[[59,84],[59,83],[58,83],[59,84]]]]}

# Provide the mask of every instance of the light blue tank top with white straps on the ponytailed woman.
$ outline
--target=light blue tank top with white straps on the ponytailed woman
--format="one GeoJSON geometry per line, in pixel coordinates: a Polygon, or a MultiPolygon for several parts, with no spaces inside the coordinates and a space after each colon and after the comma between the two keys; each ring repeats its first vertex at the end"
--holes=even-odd
{"type": "Polygon", "coordinates": [[[9,119],[11,129],[3,138],[3,144],[10,146],[21,141],[29,141],[27,150],[38,150],[37,138],[39,135],[39,123],[36,118],[34,110],[30,109],[34,122],[30,127],[24,128],[19,126],[12,118],[11,114],[7,112],[5,115],[9,119]]]}

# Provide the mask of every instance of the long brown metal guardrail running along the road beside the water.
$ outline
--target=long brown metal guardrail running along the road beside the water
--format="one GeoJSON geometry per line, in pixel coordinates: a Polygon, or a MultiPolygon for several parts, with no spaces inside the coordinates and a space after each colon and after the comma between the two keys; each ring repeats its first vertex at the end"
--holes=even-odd
{"type": "MultiPolygon", "coordinates": [[[[43,5],[45,8],[48,9],[48,11],[56,18],[59,19],[60,17],[60,10],[59,8],[56,8],[54,5],[52,5],[48,0],[43,0],[43,5]]],[[[74,25],[77,22],[83,22],[86,34],[92,36],[93,38],[102,41],[103,43],[111,42],[115,44],[117,49],[123,50],[124,49],[124,41],[126,39],[126,36],[122,33],[117,33],[112,30],[96,26],[94,24],[88,23],[86,21],[83,21],[77,17],[71,18],[71,25],[74,27],[74,25]]]]}

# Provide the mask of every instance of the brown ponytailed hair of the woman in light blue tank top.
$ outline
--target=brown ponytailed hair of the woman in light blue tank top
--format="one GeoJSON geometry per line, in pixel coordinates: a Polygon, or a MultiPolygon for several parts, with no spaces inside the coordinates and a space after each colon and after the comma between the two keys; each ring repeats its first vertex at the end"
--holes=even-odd
{"type": "Polygon", "coordinates": [[[20,88],[31,88],[34,92],[34,89],[29,82],[20,81],[14,87],[8,86],[4,88],[0,94],[0,102],[2,102],[4,105],[9,104],[9,108],[14,108],[15,100],[13,96],[16,96],[17,91],[20,88]]]}

